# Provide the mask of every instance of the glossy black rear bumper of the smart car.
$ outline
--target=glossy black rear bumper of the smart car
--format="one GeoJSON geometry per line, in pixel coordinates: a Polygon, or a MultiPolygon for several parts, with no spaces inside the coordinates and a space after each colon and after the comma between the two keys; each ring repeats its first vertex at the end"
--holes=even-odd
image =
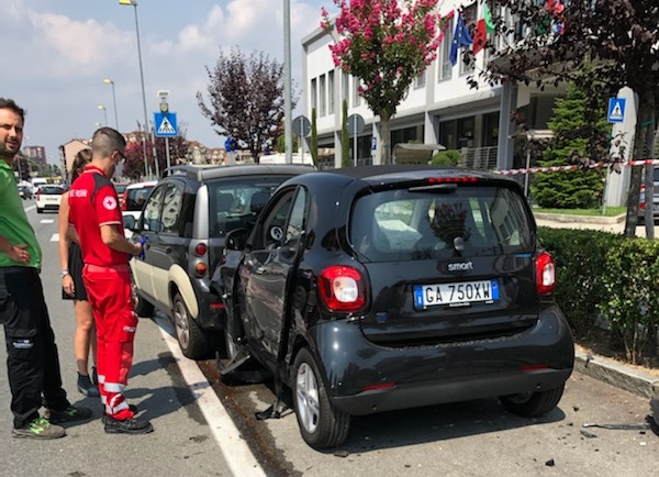
{"type": "Polygon", "coordinates": [[[548,390],[574,363],[569,328],[554,306],[530,330],[495,340],[394,348],[366,340],[356,322],[314,331],[330,398],[351,415],[548,390]]]}

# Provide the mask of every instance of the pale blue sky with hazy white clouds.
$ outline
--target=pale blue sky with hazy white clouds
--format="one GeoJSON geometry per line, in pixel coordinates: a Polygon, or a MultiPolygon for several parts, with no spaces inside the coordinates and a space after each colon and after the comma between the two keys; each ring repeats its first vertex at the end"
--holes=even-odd
{"type": "MultiPolygon", "coordinates": [[[[206,67],[221,52],[264,52],[283,63],[283,0],[138,0],[147,119],[169,91],[186,137],[222,147],[201,114],[206,67]]],[[[301,87],[301,40],[320,26],[321,8],[333,0],[290,0],[291,71],[301,87]]],[[[144,123],[135,7],[119,0],[0,0],[0,97],[26,110],[23,146],[44,146],[59,164],[58,146],[89,138],[97,124],[135,131],[144,123]],[[116,99],[116,120],[112,85],[116,99]],[[105,109],[99,109],[99,106],[105,109]],[[107,117],[107,119],[105,119],[107,117]]],[[[293,115],[298,109],[293,111],[293,115]]]]}

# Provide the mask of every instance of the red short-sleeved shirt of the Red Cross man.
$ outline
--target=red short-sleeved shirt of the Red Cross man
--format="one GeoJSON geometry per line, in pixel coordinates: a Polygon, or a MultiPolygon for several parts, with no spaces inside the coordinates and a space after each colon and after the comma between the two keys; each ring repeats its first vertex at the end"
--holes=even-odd
{"type": "Polygon", "coordinates": [[[124,233],[116,190],[101,169],[85,167],[69,190],[69,223],[80,236],[82,262],[101,267],[126,265],[127,255],[101,240],[101,225],[118,225],[124,233]]]}

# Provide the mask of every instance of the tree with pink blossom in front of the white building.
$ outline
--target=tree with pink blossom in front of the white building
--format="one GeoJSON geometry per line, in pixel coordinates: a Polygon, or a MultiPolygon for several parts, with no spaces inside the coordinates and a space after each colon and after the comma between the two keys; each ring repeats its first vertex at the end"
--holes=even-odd
{"type": "Polygon", "coordinates": [[[358,93],[380,117],[381,163],[391,164],[391,119],[412,82],[437,56],[446,19],[439,0],[334,0],[321,27],[333,35],[334,65],[360,80],[358,93]]]}

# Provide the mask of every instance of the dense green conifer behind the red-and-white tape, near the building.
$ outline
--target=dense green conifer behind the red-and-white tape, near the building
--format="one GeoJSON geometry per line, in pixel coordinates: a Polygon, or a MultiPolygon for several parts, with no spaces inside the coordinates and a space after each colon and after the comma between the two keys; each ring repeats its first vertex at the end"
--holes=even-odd
{"type": "Polygon", "coordinates": [[[611,125],[605,112],[604,97],[589,89],[587,82],[569,84],[566,98],[556,100],[554,118],[548,122],[554,140],[538,165],[584,167],[537,174],[530,190],[540,207],[589,209],[600,204],[604,189],[601,170],[587,166],[608,155],[611,125]]]}

